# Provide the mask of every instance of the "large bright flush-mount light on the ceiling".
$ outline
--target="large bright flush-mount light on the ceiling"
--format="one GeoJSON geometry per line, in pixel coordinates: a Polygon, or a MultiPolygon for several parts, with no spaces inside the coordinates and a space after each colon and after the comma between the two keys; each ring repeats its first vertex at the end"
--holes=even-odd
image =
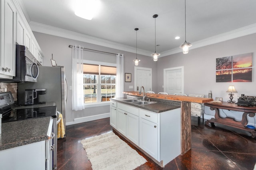
{"type": "Polygon", "coordinates": [[[76,0],[75,14],[86,20],[92,20],[100,8],[98,0],[76,0]]]}

